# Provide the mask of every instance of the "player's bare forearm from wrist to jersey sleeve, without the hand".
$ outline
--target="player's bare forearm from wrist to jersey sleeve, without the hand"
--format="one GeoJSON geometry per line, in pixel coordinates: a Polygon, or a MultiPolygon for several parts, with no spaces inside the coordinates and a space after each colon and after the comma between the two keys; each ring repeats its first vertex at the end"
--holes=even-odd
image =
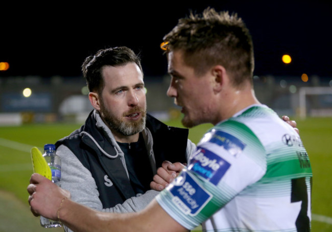
{"type": "Polygon", "coordinates": [[[92,211],[73,201],[67,201],[60,219],[74,231],[187,231],[153,200],[140,213],[112,214],[92,211]]]}

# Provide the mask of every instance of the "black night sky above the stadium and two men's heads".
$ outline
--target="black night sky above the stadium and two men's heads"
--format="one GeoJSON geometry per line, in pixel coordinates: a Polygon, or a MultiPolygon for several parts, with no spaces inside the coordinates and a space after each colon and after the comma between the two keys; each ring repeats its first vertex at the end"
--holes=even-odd
{"type": "Polygon", "coordinates": [[[207,6],[237,12],[249,28],[255,49],[255,75],[331,77],[331,1],[113,1],[89,5],[2,4],[0,77],[80,76],[84,58],[98,49],[126,45],[140,53],[146,76],[167,72],[159,48],[164,34],[189,9],[207,6]],[[328,3],[329,2],[329,3],[328,3]],[[180,3],[180,4],[179,4],[180,3]],[[18,6],[19,5],[19,6],[18,6]],[[284,65],[281,55],[293,62],[284,65]]]}

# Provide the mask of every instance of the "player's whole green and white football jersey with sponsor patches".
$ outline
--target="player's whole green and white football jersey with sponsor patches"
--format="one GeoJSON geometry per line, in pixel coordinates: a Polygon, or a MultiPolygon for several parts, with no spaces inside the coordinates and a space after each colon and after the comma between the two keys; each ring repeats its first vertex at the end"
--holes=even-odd
{"type": "Polygon", "coordinates": [[[310,231],[312,170],[296,131],[265,105],[210,129],[157,202],[188,229],[310,231]]]}

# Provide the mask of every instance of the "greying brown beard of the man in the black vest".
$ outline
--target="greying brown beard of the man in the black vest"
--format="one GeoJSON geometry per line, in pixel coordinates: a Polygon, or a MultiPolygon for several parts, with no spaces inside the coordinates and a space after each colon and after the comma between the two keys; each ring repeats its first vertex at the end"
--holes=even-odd
{"type": "Polygon", "coordinates": [[[136,133],[139,133],[144,130],[146,126],[147,112],[146,109],[142,109],[138,106],[135,106],[128,112],[125,112],[124,115],[128,115],[134,112],[139,112],[141,118],[139,121],[125,122],[121,118],[116,118],[112,115],[109,110],[104,106],[103,102],[100,105],[100,114],[105,124],[110,128],[111,131],[116,131],[125,136],[131,136],[136,133]]]}

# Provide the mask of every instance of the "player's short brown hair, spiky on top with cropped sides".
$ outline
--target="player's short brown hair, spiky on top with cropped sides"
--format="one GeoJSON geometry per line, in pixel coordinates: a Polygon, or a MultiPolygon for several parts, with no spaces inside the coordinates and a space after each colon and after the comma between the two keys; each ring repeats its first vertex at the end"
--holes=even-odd
{"type": "Polygon", "coordinates": [[[236,13],[216,12],[206,8],[202,14],[179,19],[176,27],[163,38],[168,51],[181,50],[186,65],[204,74],[213,65],[223,65],[232,84],[252,83],[253,44],[249,30],[236,13]]]}

